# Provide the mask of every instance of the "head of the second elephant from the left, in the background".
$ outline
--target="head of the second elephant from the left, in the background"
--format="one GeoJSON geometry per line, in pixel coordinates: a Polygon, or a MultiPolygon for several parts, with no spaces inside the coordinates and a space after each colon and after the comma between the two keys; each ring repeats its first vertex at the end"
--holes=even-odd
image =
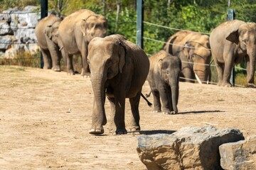
{"type": "Polygon", "coordinates": [[[95,37],[105,37],[107,35],[107,19],[102,15],[91,15],[82,19],[80,30],[87,42],[95,37]]]}

